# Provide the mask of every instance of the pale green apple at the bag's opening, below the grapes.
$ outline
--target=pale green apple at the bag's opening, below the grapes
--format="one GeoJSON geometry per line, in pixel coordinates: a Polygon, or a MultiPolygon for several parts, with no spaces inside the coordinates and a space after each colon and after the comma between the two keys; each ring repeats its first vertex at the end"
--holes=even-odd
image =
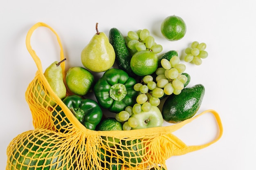
{"type": "Polygon", "coordinates": [[[131,117],[135,117],[138,122],[138,126],[132,129],[159,127],[164,123],[162,113],[157,106],[151,106],[148,112],[141,111],[141,113],[132,114],[131,117]]]}

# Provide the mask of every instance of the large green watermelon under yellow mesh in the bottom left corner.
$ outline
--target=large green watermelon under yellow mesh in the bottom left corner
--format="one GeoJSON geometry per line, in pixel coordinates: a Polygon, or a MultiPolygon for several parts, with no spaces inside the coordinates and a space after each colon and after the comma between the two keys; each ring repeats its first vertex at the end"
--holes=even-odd
{"type": "Polygon", "coordinates": [[[7,165],[10,169],[34,170],[33,167],[38,166],[41,168],[37,170],[74,170],[75,164],[63,158],[66,150],[59,150],[56,145],[56,139],[59,139],[56,134],[31,130],[26,137],[18,139],[13,156],[9,158],[11,165],[7,165]]]}

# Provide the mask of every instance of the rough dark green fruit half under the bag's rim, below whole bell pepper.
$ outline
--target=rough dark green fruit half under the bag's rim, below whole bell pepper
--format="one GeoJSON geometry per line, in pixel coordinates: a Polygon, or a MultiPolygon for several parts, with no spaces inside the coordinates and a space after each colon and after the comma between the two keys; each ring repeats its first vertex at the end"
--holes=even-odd
{"type": "MultiPolygon", "coordinates": [[[[96,130],[108,131],[108,130],[123,130],[123,125],[121,122],[113,117],[108,117],[103,119],[96,127],[96,130]]],[[[103,144],[109,147],[113,147],[116,144],[119,144],[120,139],[114,137],[105,137],[102,136],[103,144]]]]}

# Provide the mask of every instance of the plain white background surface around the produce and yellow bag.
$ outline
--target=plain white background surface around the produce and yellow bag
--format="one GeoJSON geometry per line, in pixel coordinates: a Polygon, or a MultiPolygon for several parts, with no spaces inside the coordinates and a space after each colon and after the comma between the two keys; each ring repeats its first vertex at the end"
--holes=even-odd
{"type": "MultiPolygon", "coordinates": [[[[107,35],[112,27],[124,35],[146,28],[155,42],[162,44],[162,53],[178,50],[181,58],[191,42],[205,42],[209,57],[200,66],[185,63],[186,73],[191,75],[189,86],[203,84],[206,89],[198,113],[216,110],[222,119],[223,136],[207,148],[171,157],[166,164],[170,170],[254,169],[255,7],[253,0],[2,0],[0,169],[5,169],[10,141],[34,128],[25,91],[37,68],[26,49],[25,38],[37,22],[52,26],[60,36],[67,57],[66,69],[82,66],[80,53],[94,35],[96,22],[99,31],[107,35]],[[164,39],[160,33],[160,24],[169,15],[180,16],[186,22],[186,35],[176,42],[164,39]]],[[[31,46],[40,57],[43,69],[59,60],[58,44],[48,29],[36,30],[31,46]]],[[[187,145],[204,144],[215,139],[218,128],[208,114],[175,135],[187,145]]]]}

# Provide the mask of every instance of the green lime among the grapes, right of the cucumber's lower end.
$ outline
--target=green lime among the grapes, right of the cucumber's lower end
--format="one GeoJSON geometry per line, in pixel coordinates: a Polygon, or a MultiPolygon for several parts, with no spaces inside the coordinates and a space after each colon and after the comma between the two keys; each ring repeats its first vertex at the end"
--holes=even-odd
{"type": "Polygon", "coordinates": [[[157,69],[158,58],[155,53],[147,50],[138,51],[132,55],[130,67],[136,75],[145,76],[154,73],[157,69]]]}

